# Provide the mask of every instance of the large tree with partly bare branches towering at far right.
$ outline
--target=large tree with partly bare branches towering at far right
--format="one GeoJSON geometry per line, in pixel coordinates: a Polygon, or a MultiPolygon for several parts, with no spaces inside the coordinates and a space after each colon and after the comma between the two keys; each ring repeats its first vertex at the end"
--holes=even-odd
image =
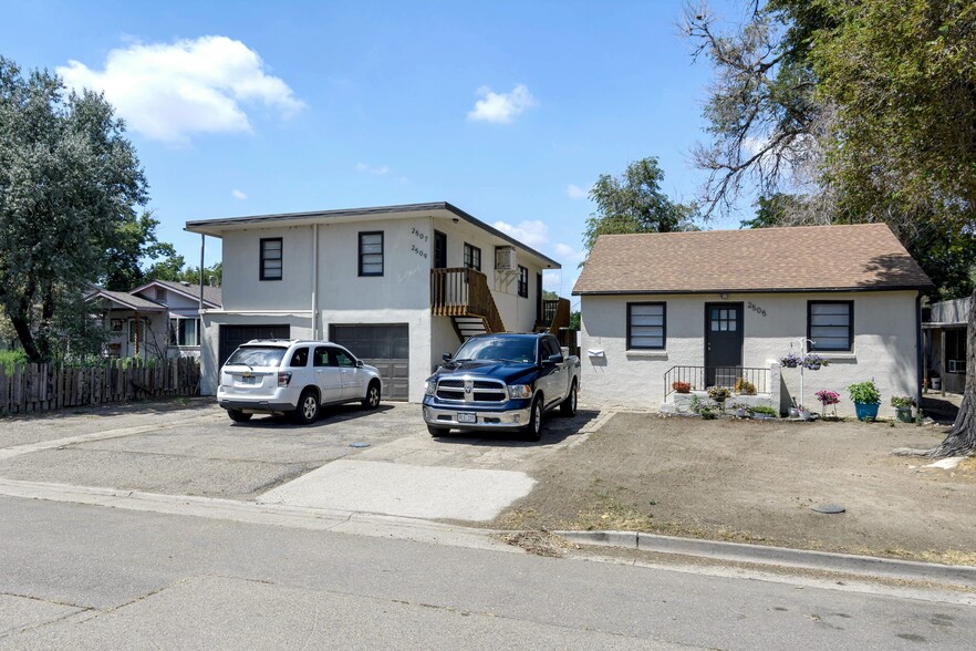
{"type": "MultiPolygon", "coordinates": [[[[685,32],[716,71],[706,107],[703,200],[790,186],[793,208],[833,223],[885,221],[943,290],[968,277],[976,234],[976,3],[972,0],[754,2],[734,33],[707,11],[685,32]],[[751,183],[748,183],[751,182],[751,183]]],[[[961,283],[972,288],[972,281],[961,283]]],[[[976,294],[963,405],[933,456],[976,450],[976,294]]]]}

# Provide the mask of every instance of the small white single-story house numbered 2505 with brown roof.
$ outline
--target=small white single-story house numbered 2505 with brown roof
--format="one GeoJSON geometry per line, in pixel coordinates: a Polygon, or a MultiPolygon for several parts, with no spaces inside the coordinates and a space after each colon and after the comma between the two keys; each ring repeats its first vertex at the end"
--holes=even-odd
{"type": "Polygon", "coordinates": [[[584,400],[686,407],[675,382],[703,391],[741,379],[758,395],[735,401],[819,411],[814,393],[830,390],[853,415],[847,388],[873,380],[886,407],[921,394],[931,288],[884,224],[601,236],[573,288],[584,400]],[[791,352],[829,365],[801,375],[781,368],[791,352]]]}

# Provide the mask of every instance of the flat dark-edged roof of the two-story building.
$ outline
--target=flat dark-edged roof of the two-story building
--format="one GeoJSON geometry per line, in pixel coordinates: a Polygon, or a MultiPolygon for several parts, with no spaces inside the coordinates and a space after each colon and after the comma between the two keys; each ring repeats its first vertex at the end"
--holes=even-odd
{"type": "Polygon", "coordinates": [[[404,204],[399,206],[375,206],[372,208],[347,208],[342,210],[315,210],[312,213],[284,213],[279,215],[253,215],[250,217],[231,217],[227,219],[200,219],[186,223],[186,230],[201,232],[214,237],[221,237],[225,230],[260,226],[291,226],[302,223],[314,221],[352,221],[368,219],[395,219],[398,217],[416,217],[417,213],[427,213],[450,219],[464,219],[465,221],[481,228],[491,235],[499,237],[518,248],[537,256],[553,269],[562,266],[552,258],[544,256],[533,248],[526,246],[510,235],[498,230],[494,226],[485,224],[480,219],[468,215],[460,208],[451,206],[447,202],[430,204],[404,204]]]}

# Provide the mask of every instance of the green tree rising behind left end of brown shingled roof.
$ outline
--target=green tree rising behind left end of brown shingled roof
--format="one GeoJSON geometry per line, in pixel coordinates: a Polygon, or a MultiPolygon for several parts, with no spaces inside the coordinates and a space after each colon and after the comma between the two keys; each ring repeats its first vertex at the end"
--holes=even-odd
{"type": "Polygon", "coordinates": [[[586,219],[586,252],[601,235],[696,229],[697,208],[667,198],[661,189],[662,180],[664,172],[654,157],[631,163],[620,178],[601,174],[590,190],[596,213],[586,219]]]}

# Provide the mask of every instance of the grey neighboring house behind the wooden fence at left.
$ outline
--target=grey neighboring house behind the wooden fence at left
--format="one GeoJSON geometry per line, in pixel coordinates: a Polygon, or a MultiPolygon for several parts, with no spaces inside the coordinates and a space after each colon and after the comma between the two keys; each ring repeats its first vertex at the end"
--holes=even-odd
{"type": "MultiPolygon", "coordinates": [[[[200,287],[152,280],[131,291],[95,289],[86,298],[98,307],[112,332],[111,358],[200,355],[200,287]]],[[[204,309],[220,309],[219,287],[204,286],[204,309]]]]}

